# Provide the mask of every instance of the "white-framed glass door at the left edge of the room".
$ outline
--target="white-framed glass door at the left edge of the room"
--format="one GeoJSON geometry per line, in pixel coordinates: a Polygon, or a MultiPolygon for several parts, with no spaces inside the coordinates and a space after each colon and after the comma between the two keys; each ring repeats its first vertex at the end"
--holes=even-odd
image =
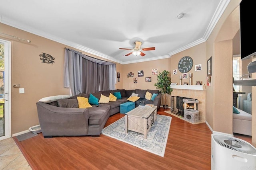
{"type": "Polygon", "coordinates": [[[9,114],[10,41],[0,39],[0,140],[11,137],[9,114]]]}

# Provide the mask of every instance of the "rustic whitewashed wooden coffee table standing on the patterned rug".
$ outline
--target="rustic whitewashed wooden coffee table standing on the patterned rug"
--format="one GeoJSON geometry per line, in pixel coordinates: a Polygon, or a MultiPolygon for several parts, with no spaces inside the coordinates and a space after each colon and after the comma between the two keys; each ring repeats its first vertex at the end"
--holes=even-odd
{"type": "Polygon", "coordinates": [[[147,139],[148,131],[156,121],[157,107],[138,106],[125,113],[125,133],[135,131],[144,134],[147,139]]]}

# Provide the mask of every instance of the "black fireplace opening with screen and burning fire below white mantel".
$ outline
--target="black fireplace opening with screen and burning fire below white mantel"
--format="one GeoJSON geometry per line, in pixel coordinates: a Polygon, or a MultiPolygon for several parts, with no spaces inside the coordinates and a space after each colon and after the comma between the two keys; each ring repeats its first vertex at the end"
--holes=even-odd
{"type": "MultiPolygon", "coordinates": [[[[185,98],[185,97],[180,97],[180,96],[172,96],[171,97],[171,112],[176,114],[176,115],[179,115],[181,117],[184,117],[184,102],[183,102],[183,99],[192,99],[192,98],[185,98]]],[[[186,108],[187,109],[194,109],[194,104],[187,103],[186,108]]]]}

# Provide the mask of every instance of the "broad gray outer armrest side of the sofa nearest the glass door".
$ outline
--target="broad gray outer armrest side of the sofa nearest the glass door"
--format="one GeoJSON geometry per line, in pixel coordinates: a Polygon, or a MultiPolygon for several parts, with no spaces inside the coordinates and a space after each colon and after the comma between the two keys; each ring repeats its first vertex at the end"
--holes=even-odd
{"type": "Polygon", "coordinates": [[[37,102],[40,127],[44,136],[88,134],[88,109],[64,108],[37,102]]]}

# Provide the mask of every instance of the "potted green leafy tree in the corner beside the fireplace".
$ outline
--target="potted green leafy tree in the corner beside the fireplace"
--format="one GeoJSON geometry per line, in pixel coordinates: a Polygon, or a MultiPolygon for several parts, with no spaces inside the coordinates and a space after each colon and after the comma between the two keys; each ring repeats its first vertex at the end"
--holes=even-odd
{"type": "Polygon", "coordinates": [[[160,90],[161,94],[164,96],[164,109],[168,108],[166,104],[166,94],[171,94],[172,88],[171,85],[171,78],[168,76],[169,71],[164,70],[163,72],[159,72],[157,75],[157,82],[154,84],[157,89],[160,90]]]}

